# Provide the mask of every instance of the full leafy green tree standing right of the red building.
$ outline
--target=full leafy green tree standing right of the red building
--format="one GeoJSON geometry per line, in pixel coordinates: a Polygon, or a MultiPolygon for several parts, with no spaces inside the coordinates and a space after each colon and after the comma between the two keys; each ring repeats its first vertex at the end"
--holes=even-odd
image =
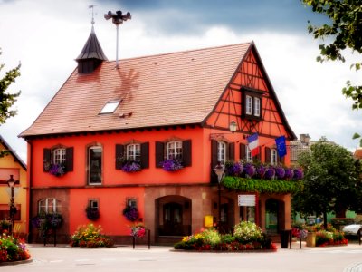
{"type": "Polygon", "coordinates": [[[310,151],[300,154],[299,163],[304,180],[300,192],[293,196],[295,211],[323,214],[327,227],[328,212],[345,217],[346,209],[358,208],[362,191],[360,164],[351,152],[322,138],[310,146],[310,151]]]}

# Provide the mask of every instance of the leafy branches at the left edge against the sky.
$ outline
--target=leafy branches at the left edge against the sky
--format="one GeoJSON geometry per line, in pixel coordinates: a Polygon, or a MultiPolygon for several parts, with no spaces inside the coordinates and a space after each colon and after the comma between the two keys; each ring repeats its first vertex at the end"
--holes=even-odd
{"type": "MultiPolygon", "coordinates": [[[[1,55],[0,49],[0,55],[1,55]]],[[[0,64],[0,72],[3,70],[5,64],[0,64]]],[[[16,110],[12,109],[14,102],[16,102],[17,97],[20,95],[19,92],[6,92],[11,83],[15,82],[15,79],[20,76],[20,64],[16,68],[11,69],[5,73],[3,78],[0,78],[0,125],[4,124],[6,119],[14,117],[16,115],[16,110]]],[[[6,151],[0,151],[0,158],[4,157],[6,151]]]]}

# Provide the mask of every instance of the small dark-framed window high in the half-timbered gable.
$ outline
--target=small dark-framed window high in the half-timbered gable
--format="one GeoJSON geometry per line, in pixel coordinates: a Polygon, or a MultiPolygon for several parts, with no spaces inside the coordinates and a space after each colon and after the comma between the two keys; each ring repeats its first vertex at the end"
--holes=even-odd
{"type": "Polygon", "coordinates": [[[262,92],[243,88],[243,117],[246,119],[262,119],[262,92]]]}

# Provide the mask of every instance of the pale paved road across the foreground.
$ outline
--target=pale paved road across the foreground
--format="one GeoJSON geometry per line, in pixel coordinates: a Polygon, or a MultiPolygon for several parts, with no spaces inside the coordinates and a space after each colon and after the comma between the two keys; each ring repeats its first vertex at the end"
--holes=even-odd
{"type": "Polygon", "coordinates": [[[169,247],[70,248],[29,245],[32,262],[0,267],[1,272],[41,271],[362,271],[362,246],[307,248],[292,243],[275,253],[172,252],[169,247]]]}

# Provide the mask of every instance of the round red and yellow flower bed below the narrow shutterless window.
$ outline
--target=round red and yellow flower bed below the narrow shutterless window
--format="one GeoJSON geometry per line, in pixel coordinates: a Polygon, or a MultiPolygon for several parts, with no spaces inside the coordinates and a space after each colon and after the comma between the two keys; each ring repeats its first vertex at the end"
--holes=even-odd
{"type": "Polygon", "coordinates": [[[81,248],[111,248],[114,241],[108,236],[101,234],[101,227],[93,224],[79,226],[71,236],[71,247],[81,248]]]}

